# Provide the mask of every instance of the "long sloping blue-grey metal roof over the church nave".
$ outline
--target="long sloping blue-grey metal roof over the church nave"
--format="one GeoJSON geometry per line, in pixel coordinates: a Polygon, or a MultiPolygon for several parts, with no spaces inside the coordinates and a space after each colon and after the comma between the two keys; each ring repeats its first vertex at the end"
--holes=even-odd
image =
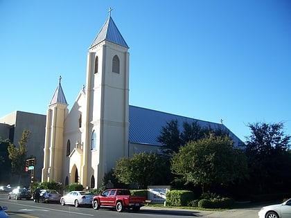
{"type": "Polygon", "coordinates": [[[177,120],[180,131],[182,131],[183,122],[192,123],[197,121],[201,127],[211,127],[217,129],[222,127],[229,131],[231,138],[237,145],[241,140],[234,135],[227,127],[220,123],[208,122],[204,120],[197,120],[194,118],[188,118],[185,116],[179,116],[172,113],[165,113],[161,111],[155,111],[152,109],[145,109],[142,107],[136,107],[130,105],[129,111],[130,117],[130,129],[129,140],[130,143],[145,144],[145,145],[159,145],[161,143],[157,141],[158,136],[161,135],[161,127],[165,127],[167,122],[171,120],[177,120]]]}

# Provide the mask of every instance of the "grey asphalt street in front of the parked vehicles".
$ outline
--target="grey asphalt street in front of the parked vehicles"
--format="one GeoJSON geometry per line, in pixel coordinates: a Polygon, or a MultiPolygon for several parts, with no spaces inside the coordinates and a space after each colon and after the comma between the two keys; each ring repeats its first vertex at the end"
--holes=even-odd
{"type": "Polygon", "coordinates": [[[258,217],[259,208],[233,209],[222,212],[200,211],[200,210],[179,210],[171,208],[143,207],[140,212],[125,210],[116,212],[112,209],[101,208],[94,210],[88,207],[75,208],[74,206],[61,206],[59,203],[35,203],[33,200],[7,199],[7,194],[0,194],[0,205],[7,206],[7,213],[11,218],[66,218],[66,217],[104,217],[104,218],[148,218],[148,217],[236,217],[253,218],[258,217]]]}

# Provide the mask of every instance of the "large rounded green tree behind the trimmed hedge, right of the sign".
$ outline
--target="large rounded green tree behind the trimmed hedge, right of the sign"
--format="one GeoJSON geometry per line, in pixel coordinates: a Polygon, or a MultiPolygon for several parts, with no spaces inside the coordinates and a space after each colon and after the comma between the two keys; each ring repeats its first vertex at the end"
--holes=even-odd
{"type": "Polygon", "coordinates": [[[243,151],[233,147],[228,136],[211,133],[180,147],[171,158],[171,170],[178,179],[200,185],[204,192],[204,187],[243,179],[247,161],[243,151]]]}

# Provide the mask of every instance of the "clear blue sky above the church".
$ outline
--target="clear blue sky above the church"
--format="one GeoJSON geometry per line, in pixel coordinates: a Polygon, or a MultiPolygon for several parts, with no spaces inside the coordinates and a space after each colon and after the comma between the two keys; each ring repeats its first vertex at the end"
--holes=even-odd
{"type": "Polygon", "coordinates": [[[291,1],[0,0],[0,117],[46,114],[62,75],[69,103],[112,7],[130,46],[130,105],[291,134],[291,1]]]}

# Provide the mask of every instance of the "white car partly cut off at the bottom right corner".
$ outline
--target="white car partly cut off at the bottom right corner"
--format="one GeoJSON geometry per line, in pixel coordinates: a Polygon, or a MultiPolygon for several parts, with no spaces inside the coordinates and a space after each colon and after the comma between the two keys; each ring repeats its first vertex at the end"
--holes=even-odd
{"type": "Polygon", "coordinates": [[[291,199],[280,204],[261,208],[259,218],[291,218],[291,199]]]}

